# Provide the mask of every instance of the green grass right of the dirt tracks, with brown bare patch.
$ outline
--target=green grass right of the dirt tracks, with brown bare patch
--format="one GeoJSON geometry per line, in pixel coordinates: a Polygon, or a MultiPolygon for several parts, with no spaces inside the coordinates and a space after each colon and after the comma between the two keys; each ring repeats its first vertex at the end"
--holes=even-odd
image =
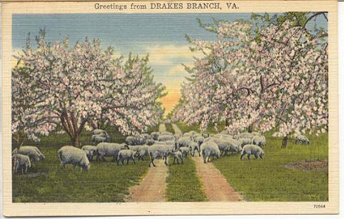
{"type": "MultiPolygon", "coordinates": [[[[178,123],[183,132],[196,130],[198,126],[178,123]]],[[[212,133],[212,130],[208,130],[212,133]]],[[[267,146],[263,160],[240,160],[240,155],[224,156],[213,161],[228,182],[243,193],[248,201],[326,201],[328,200],[328,169],[300,170],[286,168],[293,161],[328,160],[328,134],[308,136],[310,146],[295,145],[288,141],[280,148],[282,138],[266,133],[267,146]]]]}

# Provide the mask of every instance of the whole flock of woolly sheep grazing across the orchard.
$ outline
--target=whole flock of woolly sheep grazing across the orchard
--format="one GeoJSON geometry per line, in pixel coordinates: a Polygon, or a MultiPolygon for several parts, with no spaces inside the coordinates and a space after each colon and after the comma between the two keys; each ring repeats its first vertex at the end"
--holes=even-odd
{"type": "MultiPolygon", "coordinates": [[[[146,156],[150,158],[149,167],[156,166],[154,161],[163,158],[168,165],[168,157],[173,157],[174,163],[183,163],[183,160],[196,151],[198,156],[203,156],[204,163],[210,158],[220,158],[228,153],[241,153],[241,159],[247,155],[248,160],[251,156],[263,158],[263,147],[266,140],[260,133],[240,133],[231,136],[223,131],[217,134],[200,134],[196,131],[190,131],[183,134],[173,134],[168,131],[152,132],[150,135],[143,133],[137,136],[128,136],[125,143],[109,143],[108,133],[101,129],[93,131],[92,142],[99,142],[96,146],[83,146],[76,148],[74,146],[64,146],[59,149],[58,156],[61,161],[61,167],[66,164],[79,166],[81,169],[89,170],[91,161],[96,156],[96,161],[106,161],[106,157],[113,158],[117,165],[121,163],[127,165],[130,161],[136,163],[136,160],[144,160],[146,156]]],[[[295,143],[310,143],[305,136],[298,136],[295,143]]],[[[17,172],[21,168],[22,173],[26,173],[27,168],[31,167],[31,161],[41,161],[45,156],[35,146],[22,146],[12,152],[12,161],[14,170],[17,172]]]]}

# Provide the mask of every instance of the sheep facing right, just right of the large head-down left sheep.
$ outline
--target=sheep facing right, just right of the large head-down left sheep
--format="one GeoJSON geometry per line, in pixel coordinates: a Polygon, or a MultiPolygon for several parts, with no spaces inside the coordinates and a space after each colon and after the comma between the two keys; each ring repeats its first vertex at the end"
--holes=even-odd
{"type": "Polygon", "coordinates": [[[104,158],[106,156],[112,156],[114,161],[117,159],[118,152],[123,149],[128,149],[128,146],[126,146],[126,144],[118,143],[98,143],[97,161],[99,161],[100,158],[102,158],[103,161],[106,161],[106,159],[104,158]]]}

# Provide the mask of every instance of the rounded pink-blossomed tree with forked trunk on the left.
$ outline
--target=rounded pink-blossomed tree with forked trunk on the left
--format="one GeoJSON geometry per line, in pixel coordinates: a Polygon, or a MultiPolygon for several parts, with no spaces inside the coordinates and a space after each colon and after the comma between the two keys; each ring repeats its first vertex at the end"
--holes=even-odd
{"type": "MultiPolygon", "coordinates": [[[[62,130],[79,146],[87,123],[103,121],[123,134],[146,131],[163,114],[148,57],[113,58],[113,49],[101,51],[100,41],[46,42],[42,31],[37,48],[28,39],[12,69],[12,134],[34,141],[62,130]],[[19,136],[19,135],[17,135],[19,136]]],[[[16,139],[18,140],[18,139],[16,139]]]]}

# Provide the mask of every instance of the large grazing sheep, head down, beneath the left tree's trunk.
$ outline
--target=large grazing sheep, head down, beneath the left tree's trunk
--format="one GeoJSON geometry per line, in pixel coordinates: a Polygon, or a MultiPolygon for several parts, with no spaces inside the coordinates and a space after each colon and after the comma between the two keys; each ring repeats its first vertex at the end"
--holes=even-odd
{"type": "Polygon", "coordinates": [[[78,165],[80,169],[89,170],[91,163],[88,161],[86,152],[80,148],[74,146],[63,146],[58,151],[59,159],[61,161],[61,167],[66,168],[66,164],[70,163],[76,167],[78,165]]]}

